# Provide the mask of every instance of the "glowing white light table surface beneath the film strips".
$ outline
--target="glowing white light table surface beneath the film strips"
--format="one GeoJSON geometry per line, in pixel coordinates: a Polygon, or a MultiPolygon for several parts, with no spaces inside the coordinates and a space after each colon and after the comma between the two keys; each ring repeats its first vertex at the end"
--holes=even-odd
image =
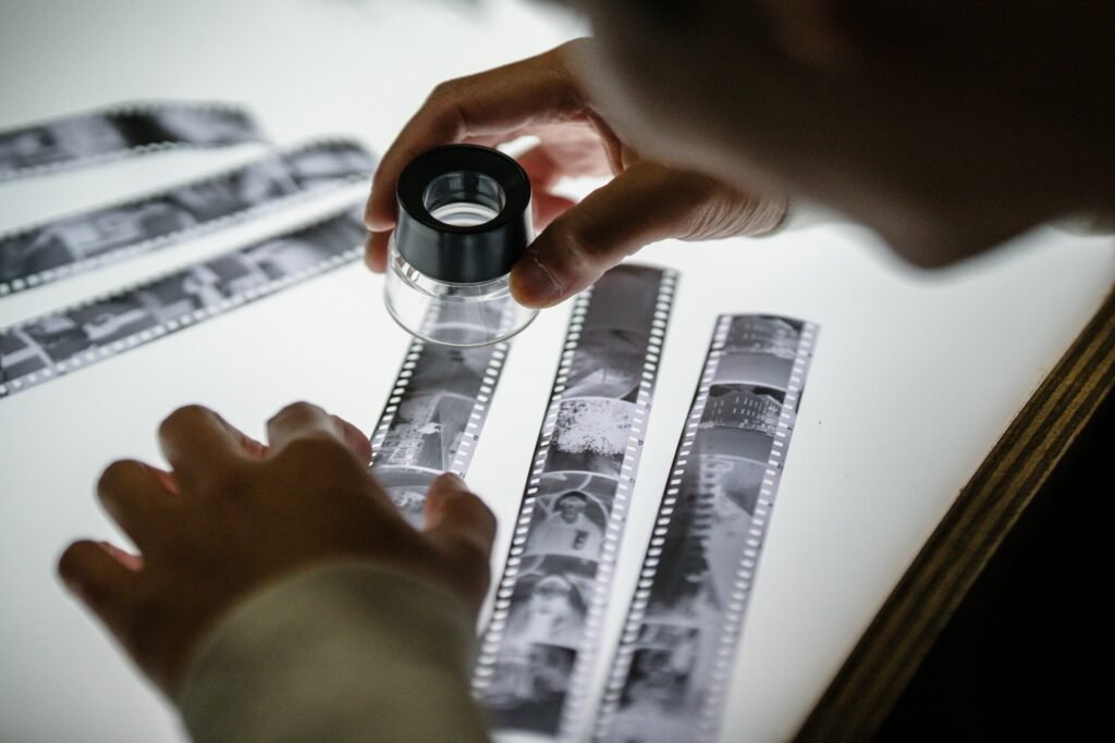
{"type": "MultiPolygon", "coordinates": [[[[136,98],[239,100],[279,143],[329,133],[379,151],[439,80],[576,32],[534,6],[36,3],[0,9],[0,126],[136,98]]],[[[144,190],[258,150],[186,153],[0,186],[0,229],[144,190]]],[[[355,188],[351,193],[360,193],[355,188]]],[[[321,204],[317,206],[320,211],[321,204]]],[[[0,325],[241,244],[313,208],[0,300],[0,325]]],[[[821,325],[746,619],[723,740],[793,735],[1011,417],[1115,278],[1109,239],[1039,231],[924,275],[866,234],[661,244],[682,272],[608,629],[611,643],[720,312],[821,325]]],[[[381,278],[352,265],[71,377],[0,400],[0,740],[166,741],[173,712],[61,590],[78,536],[119,535],[91,486],[113,459],[157,459],[154,430],[202,402],[253,434],[306,399],[366,430],[407,343],[381,278]]],[[[568,306],[515,340],[469,481],[517,508],[568,306]]],[[[496,555],[506,548],[504,529],[496,555]]],[[[497,566],[498,567],[498,566],[497,566]]]]}

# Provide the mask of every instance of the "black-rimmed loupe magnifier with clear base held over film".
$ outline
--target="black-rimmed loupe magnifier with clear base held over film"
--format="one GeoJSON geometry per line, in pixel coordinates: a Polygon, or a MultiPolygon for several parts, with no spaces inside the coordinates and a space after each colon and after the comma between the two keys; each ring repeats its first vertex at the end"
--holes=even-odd
{"type": "Polygon", "coordinates": [[[511,338],[536,310],[511,296],[511,267],[534,237],[531,183],[513,158],[448,145],[399,175],[385,300],[420,339],[475,346],[511,338]]]}

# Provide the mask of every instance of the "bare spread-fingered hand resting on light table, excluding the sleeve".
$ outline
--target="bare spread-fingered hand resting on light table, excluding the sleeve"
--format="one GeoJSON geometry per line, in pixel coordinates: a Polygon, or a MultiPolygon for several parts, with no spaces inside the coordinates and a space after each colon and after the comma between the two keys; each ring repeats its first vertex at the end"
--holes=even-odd
{"type": "Polygon", "coordinates": [[[367,471],[368,440],[320,408],[268,421],[268,446],[211,410],[158,430],[171,465],[110,465],[97,495],[139,549],[81,540],[62,554],[66,585],[172,698],[206,629],[237,600],[328,560],[368,560],[440,584],[478,609],[495,519],[464,482],[430,486],[426,530],[410,527],[367,471]]]}

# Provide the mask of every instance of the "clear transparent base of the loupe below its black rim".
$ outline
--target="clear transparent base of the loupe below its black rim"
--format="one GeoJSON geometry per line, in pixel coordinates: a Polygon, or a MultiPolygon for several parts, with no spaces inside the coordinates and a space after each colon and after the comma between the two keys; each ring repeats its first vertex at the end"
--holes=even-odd
{"type": "Polygon", "coordinates": [[[404,330],[444,345],[497,343],[526,327],[537,314],[512,299],[508,276],[476,284],[426,276],[399,255],[394,234],[384,297],[387,311],[404,330]]]}

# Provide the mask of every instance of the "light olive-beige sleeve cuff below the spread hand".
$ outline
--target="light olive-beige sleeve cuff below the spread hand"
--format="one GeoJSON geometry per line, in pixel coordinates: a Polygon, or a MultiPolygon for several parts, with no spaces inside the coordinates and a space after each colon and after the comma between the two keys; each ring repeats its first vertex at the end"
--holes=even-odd
{"type": "Polygon", "coordinates": [[[487,741],[475,628],[449,592],[365,564],[313,568],[236,605],[177,700],[198,743],[487,741]]]}

